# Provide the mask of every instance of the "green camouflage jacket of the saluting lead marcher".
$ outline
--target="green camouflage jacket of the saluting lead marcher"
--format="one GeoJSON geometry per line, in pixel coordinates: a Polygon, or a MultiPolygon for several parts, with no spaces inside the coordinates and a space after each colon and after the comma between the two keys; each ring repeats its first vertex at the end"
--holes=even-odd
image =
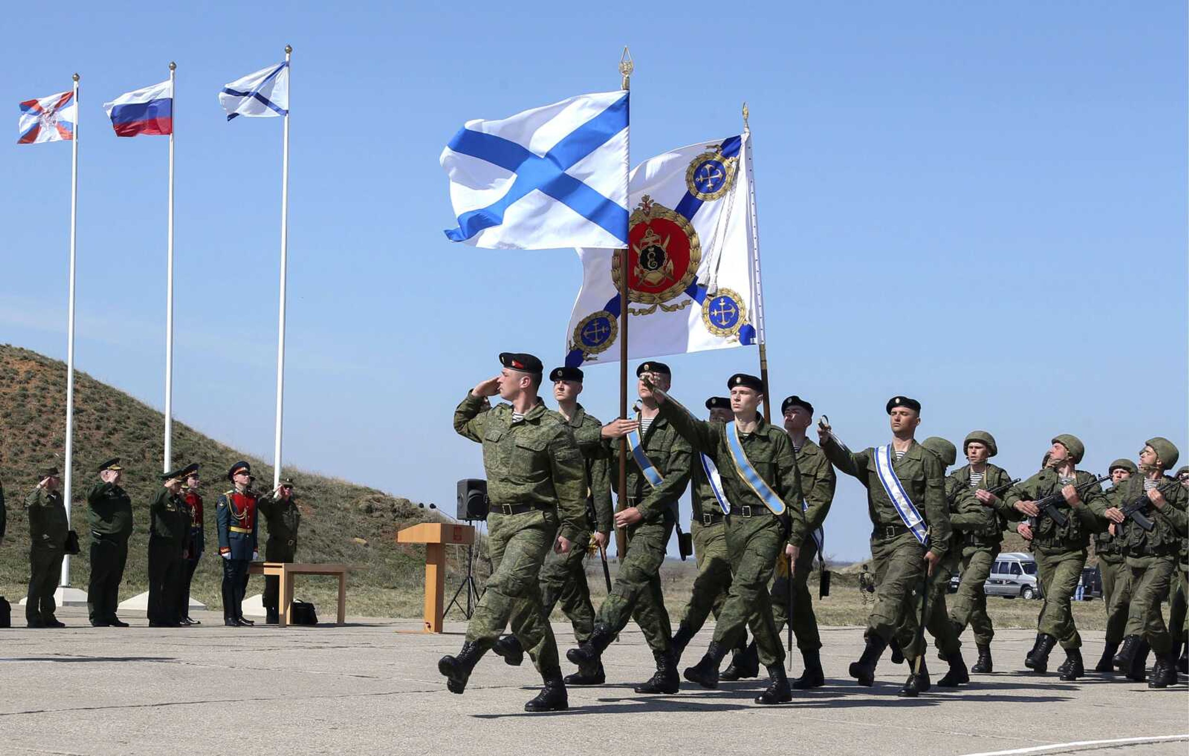
{"type": "Polygon", "coordinates": [[[492,408],[484,397],[467,392],[454,409],[454,430],[483,445],[492,506],[556,508],[558,535],[568,541],[586,530],[586,468],[561,415],[537,403],[514,422],[510,404],[492,408]]]}

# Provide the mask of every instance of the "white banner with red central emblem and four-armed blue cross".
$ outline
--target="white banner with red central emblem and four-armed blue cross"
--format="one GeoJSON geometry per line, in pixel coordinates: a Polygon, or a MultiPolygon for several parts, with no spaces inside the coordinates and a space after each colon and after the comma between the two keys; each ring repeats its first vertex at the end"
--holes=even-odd
{"type": "Polygon", "coordinates": [[[566,365],[619,359],[619,271],[628,254],[628,357],[755,344],[748,136],[666,152],[629,179],[629,246],[579,248],[583,288],[566,365]]]}

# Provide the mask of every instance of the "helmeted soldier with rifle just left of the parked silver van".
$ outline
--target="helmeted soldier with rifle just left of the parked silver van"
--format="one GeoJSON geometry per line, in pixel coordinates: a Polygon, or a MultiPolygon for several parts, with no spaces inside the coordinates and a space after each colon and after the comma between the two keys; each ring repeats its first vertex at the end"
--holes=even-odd
{"type": "Polygon", "coordinates": [[[951,515],[954,530],[957,531],[955,544],[956,556],[961,559],[962,577],[958,592],[950,601],[950,620],[957,625],[958,635],[967,625],[974,630],[974,642],[979,649],[979,659],[970,672],[994,672],[990,656],[990,641],[995,637],[995,626],[987,613],[987,593],[983,585],[990,577],[1007,529],[1007,515],[1011,504],[1005,498],[1012,477],[999,465],[987,460],[999,453],[995,436],[986,430],[971,430],[962,442],[962,452],[967,464],[950,473],[952,480],[962,489],[973,491],[976,500],[987,508],[987,517],[979,512],[951,515]],[[992,493],[999,490],[1000,493],[992,493]]]}

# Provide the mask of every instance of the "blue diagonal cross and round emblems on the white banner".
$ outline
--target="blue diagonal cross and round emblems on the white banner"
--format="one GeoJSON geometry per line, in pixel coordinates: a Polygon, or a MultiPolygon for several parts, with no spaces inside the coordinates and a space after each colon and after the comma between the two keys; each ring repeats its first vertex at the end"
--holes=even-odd
{"type": "MultiPolygon", "coordinates": [[[[748,323],[747,305],[738,292],[719,288],[707,295],[697,283],[703,263],[703,245],[693,226],[693,216],[704,203],[728,196],[738,172],[738,139],[711,145],[690,160],[685,171],[686,194],[675,208],[668,208],[643,195],[629,219],[627,250],[611,257],[610,276],[616,291],[621,286],[622,258],[628,254],[628,313],[647,316],[658,310],[674,313],[702,304],[702,321],[709,333],[737,340],[748,323]],[[634,308],[630,303],[646,307],[634,308]]],[[[721,222],[730,222],[729,214],[721,222]]],[[[606,309],[583,317],[571,335],[568,352],[579,353],[581,361],[597,359],[618,335],[618,296],[606,309]]]]}

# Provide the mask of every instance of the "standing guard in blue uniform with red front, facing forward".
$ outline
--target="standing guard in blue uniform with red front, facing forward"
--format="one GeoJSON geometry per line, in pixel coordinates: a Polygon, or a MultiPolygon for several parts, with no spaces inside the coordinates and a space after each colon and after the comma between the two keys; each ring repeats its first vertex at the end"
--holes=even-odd
{"type": "Polygon", "coordinates": [[[228,628],[253,625],[244,619],[244,592],[247,587],[247,567],[260,557],[257,541],[257,499],[251,490],[252,466],[239,461],[227,471],[227,479],[235,484],[215,503],[215,530],[219,534],[219,556],[224,560],[222,601],[224,624],[228,628]]]}

